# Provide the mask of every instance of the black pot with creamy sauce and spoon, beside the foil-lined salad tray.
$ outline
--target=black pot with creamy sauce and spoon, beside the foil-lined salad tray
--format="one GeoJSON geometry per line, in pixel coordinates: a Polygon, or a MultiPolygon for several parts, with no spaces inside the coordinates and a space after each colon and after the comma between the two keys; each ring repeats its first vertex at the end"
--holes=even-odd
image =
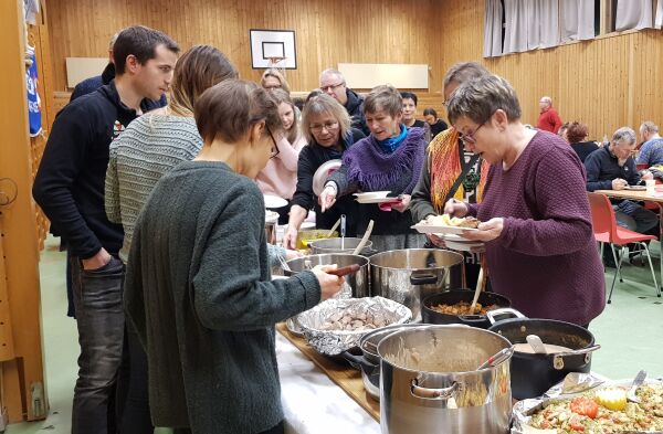
{"type": "Polygon", "coordinates": [[[514,352],[512,389],[517,400],[540,396],[562,381],[569,372],[589,372],[591,353],[601,348],[594,343],[594,337],[589,330],[571,322],[530,319],[509,308],[490,310],[486,316],[493,324],[490,330],[504,336],[514,345],[526,343],[527,335],[537,335],[545,343],[570,349],[568,352],[551,354],[514,352]],[[499,320],[502,315],[516,318],[499,320]]]}

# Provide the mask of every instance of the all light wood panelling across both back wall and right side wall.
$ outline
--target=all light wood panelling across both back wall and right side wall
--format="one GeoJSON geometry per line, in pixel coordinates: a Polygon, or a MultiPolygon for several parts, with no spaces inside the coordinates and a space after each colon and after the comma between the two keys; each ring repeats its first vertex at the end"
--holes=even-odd
{"type": "MultiPolygon", "coordinates": [[[[249,29],[296,31],[298,68],[287,72],[294,91],[318,85],[322,70],[339,62],[428,63],[436,102],[444,72],[475,60],[505,76],[518,92],[523,120],[536,124],[538,100],[554,99],[564,120],[586,123],[592,138],[643,120],[663,124],[656,91],[663,83],[663,33],[625,32],[548,50],[482,59],[483,8],[478,0],[46,0],[54,62],[54,91],[65,91],[66,56],[103,56],[109,38],[133,23],[172,35],[182,47],[211,43],[224,51],[241,75],[251,68],[249,29]],[[51,4],[52,3],[52,4],[51,4]]],[[[440,103],[433,105],[441,108],[440,103]]],[[[420,104],[420,112],[424,108],[420,104]]],[[[445,117],[445,113],[441,113],[445,117]]]]}

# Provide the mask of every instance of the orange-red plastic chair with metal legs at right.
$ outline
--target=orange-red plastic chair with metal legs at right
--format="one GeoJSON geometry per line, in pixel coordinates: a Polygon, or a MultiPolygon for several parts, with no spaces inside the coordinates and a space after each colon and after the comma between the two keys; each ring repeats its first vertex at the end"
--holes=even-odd
{"type": "Polygon", "coordinates": [[[618,245],[621,251],[625,248],[627,244],[631,243],[639,244],[646,254],[646,260],[649,261],[650,269],[652,272],[652,278],[654,279],[654,287],[656,288],[656,296],[661,297],[661,288],[656,283],[656,275],[654,274],[652,257],[650,256],[649,247],[645,243],[645,241],[657,240],[657,237],[654,235],[644,235],[617,224],[617,219],[614,216],[612,203],[610,203],[610,200],[606,194],[588,193],[588,197],[589,205],[591,208],[591,221],[593,225],[594,239],[599,243],[601,243],[601,257],[603,257],[603,245],[604,243],[608,243],[610,244],[612,257],[614,258],[614,263],[617,264],[617,272],[614,273],[614,277],[612,278],[612,285],[610,286],[610,295],[608,296],[608,303],[612,301],[612,290],[614,289],[614,282],[617,280],[618,274],[620,275],[620,282],[623,282],[623,279],[621,278],[621,264],[624,255],[620,252],[620,257],[618,262],[617,254],[614,253],[614,245],[618,245]]]}

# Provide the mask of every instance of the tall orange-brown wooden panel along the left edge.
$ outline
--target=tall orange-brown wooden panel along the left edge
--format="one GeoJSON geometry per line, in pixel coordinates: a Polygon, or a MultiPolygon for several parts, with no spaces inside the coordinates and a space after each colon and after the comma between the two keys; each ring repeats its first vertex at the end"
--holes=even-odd
{"type": "MultiPolygon", "coordinates": [[[[0,1],[0,189],[15,200],[0,205],[0,394],[9,420],[44,419],[48,400],[40,324],[38,223],[32,201],[28,137],[24,28],[17,1],[0,1]],[[11,180],[11,181],[9,181],[11,180]],[[6,190],[7,191],[7,190],[6,190]]],[[[33,42],[39,40],[39,35],[33,42]]],[[[38,51],[39,55],[39,51],[38,51]]],[[[41,71],[40,71],[41,72],[41,71]]]]}

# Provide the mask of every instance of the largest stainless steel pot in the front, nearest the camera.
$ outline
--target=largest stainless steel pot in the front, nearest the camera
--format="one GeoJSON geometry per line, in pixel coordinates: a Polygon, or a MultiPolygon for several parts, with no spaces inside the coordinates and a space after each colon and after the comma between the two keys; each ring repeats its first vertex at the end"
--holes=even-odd
{"type": "Polygon", "coordinates": [[[467,326],[420,326],[378,345],[382,434],[506,434],[509,359],[476,370],[511,343],[467,326]]]}

